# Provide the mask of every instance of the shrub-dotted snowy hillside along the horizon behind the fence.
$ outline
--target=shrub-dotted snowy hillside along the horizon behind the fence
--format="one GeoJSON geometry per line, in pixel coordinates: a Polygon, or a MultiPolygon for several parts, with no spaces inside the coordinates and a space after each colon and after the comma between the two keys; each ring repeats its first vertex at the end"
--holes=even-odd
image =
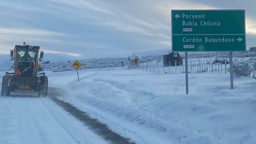
{"type": "MultiPolygon", "coordinates": [[[[181,56],[185,58],[184,54],[181,53],[181,56]]],[[[229,52],[200,52],[200,53],[188,53],[188,58],[229,58],[229,52]],[[216,55],[217,54],[217,55],[216,55]]],[[[249,56],[256,56],[256,52],[245,52],[245,57],[249,56]]],[[[242,53],[241,52],[233,52],[234,58],[241,58],[242,53]]],[[[162,63],[163,56],[162,55],[156,55],[156,56],[144,56],[140,57],[140,63],[150,63],[150,62],[159,62],[162,63]]],[[[72,67],[72,64],[75,60],[68,60],[68,61],[60,61],[60,62],[43,62],[41,66],[46,71],[52,71],[52,72],[60,72],[60,71],[72,71],[75,70],[72,67]]],[[[97,58],[97,59],[82,59],[78,60],[82,63],[82,66],[80,69],[94,69],[94,68],[113,68],[113,67],[120,67],[121,61],[124,61],[124,65],[127,66],[129,61],[128,58],[97,58]]]]}

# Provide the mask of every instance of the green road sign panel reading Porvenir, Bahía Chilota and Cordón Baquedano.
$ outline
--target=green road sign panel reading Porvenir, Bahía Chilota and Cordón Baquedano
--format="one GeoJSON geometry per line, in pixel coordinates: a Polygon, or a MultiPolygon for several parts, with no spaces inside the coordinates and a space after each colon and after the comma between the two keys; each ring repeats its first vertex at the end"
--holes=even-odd
{"type": "Polygon", "coordinates": [[[246,51],[245,10],[172,10],[172,52],[246,51]]]}

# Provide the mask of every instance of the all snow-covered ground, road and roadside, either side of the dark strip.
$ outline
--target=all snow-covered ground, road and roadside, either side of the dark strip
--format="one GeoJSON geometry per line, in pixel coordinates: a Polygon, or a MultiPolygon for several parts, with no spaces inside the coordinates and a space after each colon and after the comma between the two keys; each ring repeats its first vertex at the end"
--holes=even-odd
{"type": "MultiPolygon", "coordinates": [[[[4,75],[4,71],[0,75],[4,75]]],[[[256,81],[229,74],[157,75],[103,68],[47,72],[65,100],[138,144],[254,144],[256,81]]],[[[0,143],[106,143],[49,98],[0,97],[0,143]],[[84,135],[85,134],[85,135],[84,135]],[[62,139],[65,137],[65,139],[62,139]],[[15,139],[12,139],[15,138],[15,139]]]]}

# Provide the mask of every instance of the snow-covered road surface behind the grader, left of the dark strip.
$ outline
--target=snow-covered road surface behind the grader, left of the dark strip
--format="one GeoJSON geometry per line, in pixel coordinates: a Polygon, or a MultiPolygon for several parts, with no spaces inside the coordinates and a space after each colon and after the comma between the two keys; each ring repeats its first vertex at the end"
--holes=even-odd
{"type": "Polygon", "coordinates": [[[1,144],[108,143],[50,98],[0,97],[1,144]]]}

